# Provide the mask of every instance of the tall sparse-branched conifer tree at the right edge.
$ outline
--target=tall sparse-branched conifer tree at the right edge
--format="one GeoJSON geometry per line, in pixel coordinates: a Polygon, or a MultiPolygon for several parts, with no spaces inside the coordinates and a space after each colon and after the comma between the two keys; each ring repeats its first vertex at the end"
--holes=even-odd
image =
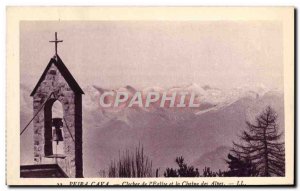
{"type": "Polygon", "coordinates": [[[282,133],[278,132],[276,112],[268,106],[256,117],[255,124],[246,124],[241,143],[233,143],[233,153],[251,162],[258,176],[284,176],[285,148],[280,141],[282,133]]]}

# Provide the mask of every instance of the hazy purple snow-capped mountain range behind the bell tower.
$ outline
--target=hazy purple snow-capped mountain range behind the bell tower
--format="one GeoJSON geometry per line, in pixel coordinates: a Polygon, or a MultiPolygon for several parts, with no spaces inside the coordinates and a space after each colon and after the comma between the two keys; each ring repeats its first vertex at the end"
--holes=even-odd
{"type": "MultiPolygon", "coordinates": [[[[107,89],[99,85],[84,88],[83,96],[83,152],[85,177],[97,176],[107,170],[119,151],[134,149],[139,143],[152,159],[153,167],[160,169],[175,166],[175,158],[183,156],[189,164],[202,170],[226,169],[224,158],[245,128],[245,121],[253,121],[265,106],[272,106],[278,113],[280,128],[284,128],[283,93],[264,86],[222,90],[208,85],[188,84],[162,88],[135,88],[130,85],[107,89]],[[105,91],[173,92],[188,91],[196,94],[199,108],[151,109],[122,107],[103,108],[99,97],[105,91]],[[224,156],[225,154],[225,156],[224,156]]],[[[21,128],[32,117],[30,88],[21,84],[21,128]]],[[[53,110],[56,110],[54,108],[53,110]]],[[[30,130],[27,130],[30,131],[30,130]]],[[[32,163],[32,132],[21,137],[21,163],[32,163]],[[23,154],[26,152],[26,154],[23,154]]]]}

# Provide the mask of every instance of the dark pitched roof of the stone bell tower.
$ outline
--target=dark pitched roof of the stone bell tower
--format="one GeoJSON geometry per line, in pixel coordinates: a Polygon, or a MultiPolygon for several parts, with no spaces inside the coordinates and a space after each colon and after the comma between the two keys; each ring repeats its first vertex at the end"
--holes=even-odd
{"type": "Polygon", "coordinates": [[[52,64],[54,64],[58,68],[59,72],[62,74],[63,78],[69,84],[70,88],[73,90],[74,93],[84,94],[84,92],[82,91],[82,89],[80,88],[80,86],[78,85],[78,83],[76,82],[76,80],[74,79],[70,71],[68,70],[68,68],[65,66],[63,61],[60,59],[58,55],[55,55],[53,58],[50,59],[46,69],[44,70],[38,83],[35,85],[34,89],[32,90],[30,96],[34,96],[36,90],[45,79],[45,76],[52,64]]]}

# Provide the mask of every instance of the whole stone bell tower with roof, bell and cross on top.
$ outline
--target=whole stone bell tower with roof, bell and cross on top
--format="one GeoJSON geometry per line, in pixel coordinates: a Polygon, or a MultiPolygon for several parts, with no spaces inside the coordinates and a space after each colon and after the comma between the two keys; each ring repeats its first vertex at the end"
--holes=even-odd
{"type": "Polygon", "coordinates": [[[45,71],[33,89],[34,110],[34,163],[57,164],[68,177],[83,177],[82,162],[82,94],[75,81],[57,54],[50,59],[45,71]],[[62,105],[62,117],[53,118],[52,106],[58,101],[62,105]],[[55,128],[54,128],[55,127],[55,128]],[[58,137],[59,138],[58,138],[58,137]],[[55,151],[59,143],[62,153],[55,151]]]}

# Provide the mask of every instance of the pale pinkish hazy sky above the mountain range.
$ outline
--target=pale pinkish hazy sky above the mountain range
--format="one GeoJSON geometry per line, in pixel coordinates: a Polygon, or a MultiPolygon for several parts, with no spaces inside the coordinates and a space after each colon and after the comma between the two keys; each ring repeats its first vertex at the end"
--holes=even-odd
{"type": "Polygon", "coordinates": [[[271,21],[22,21],[21,83],[34,88],[58,32],[58,54],[82,87],[282,89],[281,27],[271,21]]]}

